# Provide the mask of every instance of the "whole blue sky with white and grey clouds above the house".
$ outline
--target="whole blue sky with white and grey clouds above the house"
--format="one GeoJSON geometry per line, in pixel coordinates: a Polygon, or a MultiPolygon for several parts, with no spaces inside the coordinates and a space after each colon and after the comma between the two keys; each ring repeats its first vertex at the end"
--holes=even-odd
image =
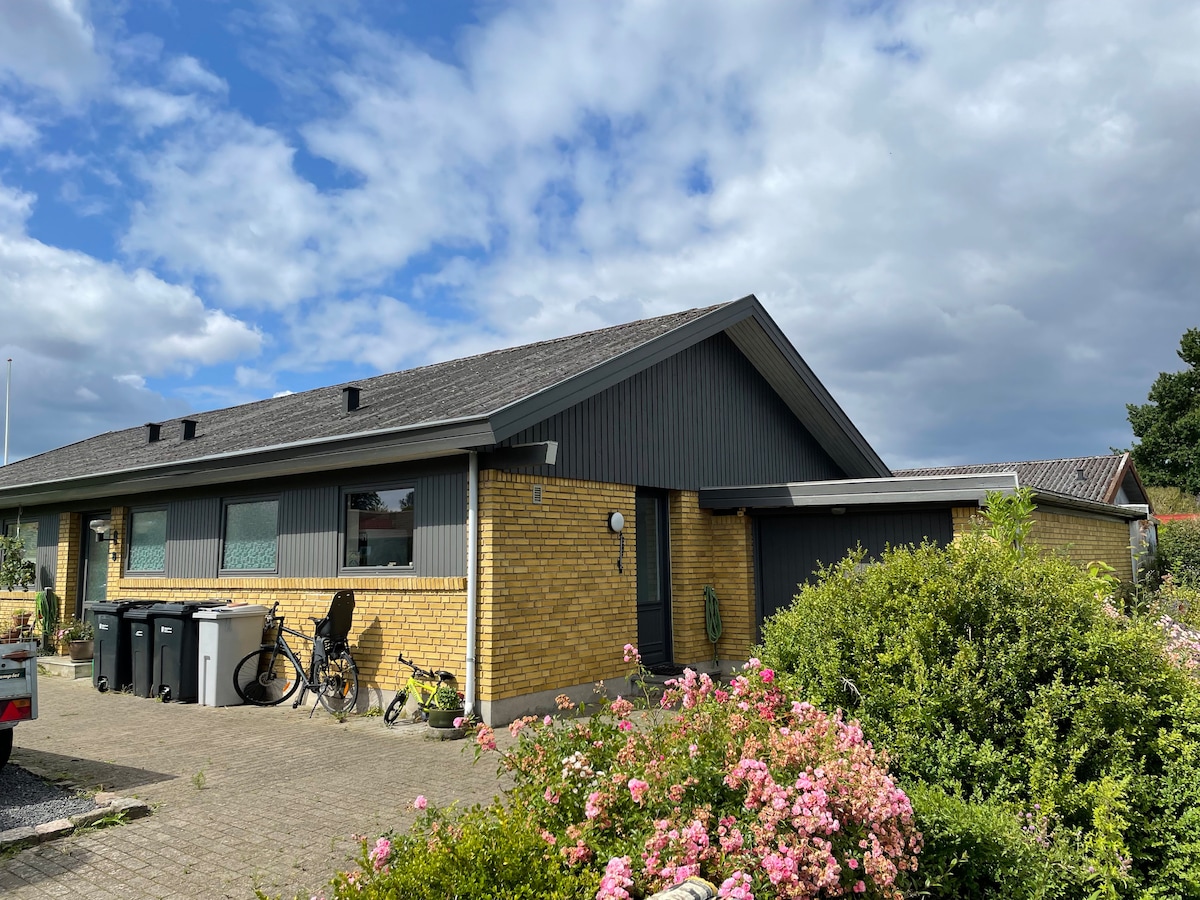
{"type": "Polygon", "coordinates": [[[1200,324],[1194,2],[0,4],[10,457],[755,293],[894,467],[1200,324]]]}

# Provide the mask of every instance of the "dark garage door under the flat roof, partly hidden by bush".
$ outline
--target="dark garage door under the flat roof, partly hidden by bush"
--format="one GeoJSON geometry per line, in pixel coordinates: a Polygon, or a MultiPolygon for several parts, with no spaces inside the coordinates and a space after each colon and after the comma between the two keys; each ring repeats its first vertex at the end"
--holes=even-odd
{"type": "Polygon", "coordinates": [[[859,545],[877,557],[887,546],[920,544],[925,538],[946,544],[953,533],[948,509],[756,516],[758,623],[788,606],[797,586],[820,565],[836,563],[859,545]]]}

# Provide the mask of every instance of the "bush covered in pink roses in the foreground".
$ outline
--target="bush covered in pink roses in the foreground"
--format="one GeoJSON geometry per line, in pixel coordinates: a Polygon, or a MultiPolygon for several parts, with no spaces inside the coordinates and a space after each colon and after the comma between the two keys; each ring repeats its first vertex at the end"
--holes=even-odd
{"type": "Polygon", "coordinates": [[[856,722],[788,700],[757,660],[727,685],[688,671],[637,727],[634,714],[618,698],[587,720],[530,719],[508,751],[479,742],[547,851],[604,866],[596,900],[694,875],[738,900],[900,898],[920,835],[856,722]]]}

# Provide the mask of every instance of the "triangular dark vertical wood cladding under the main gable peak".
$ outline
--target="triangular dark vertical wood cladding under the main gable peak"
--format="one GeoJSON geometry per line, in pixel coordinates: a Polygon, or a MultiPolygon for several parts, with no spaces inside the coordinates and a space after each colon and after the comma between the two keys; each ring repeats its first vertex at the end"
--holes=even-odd
{"type": "Polygon", "coordinates": [[[557,440],[546,475],[671,490],[845,473],[724,334],[504,443],[557,440]]]}

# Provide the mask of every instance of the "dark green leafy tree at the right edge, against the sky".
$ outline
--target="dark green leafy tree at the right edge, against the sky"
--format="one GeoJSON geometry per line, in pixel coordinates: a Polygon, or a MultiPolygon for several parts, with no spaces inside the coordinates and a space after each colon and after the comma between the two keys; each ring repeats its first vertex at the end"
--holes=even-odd
{"type": "Polygon", "coordinates": [[[1150,389],[1150,402],[1129,403],[1129,425],[1141,440],[1130,449],[1147,485],[1178,487],[1200,494],[1200,329],[1183,332],[1182,372],[1162,372],[1150,389]]]}

